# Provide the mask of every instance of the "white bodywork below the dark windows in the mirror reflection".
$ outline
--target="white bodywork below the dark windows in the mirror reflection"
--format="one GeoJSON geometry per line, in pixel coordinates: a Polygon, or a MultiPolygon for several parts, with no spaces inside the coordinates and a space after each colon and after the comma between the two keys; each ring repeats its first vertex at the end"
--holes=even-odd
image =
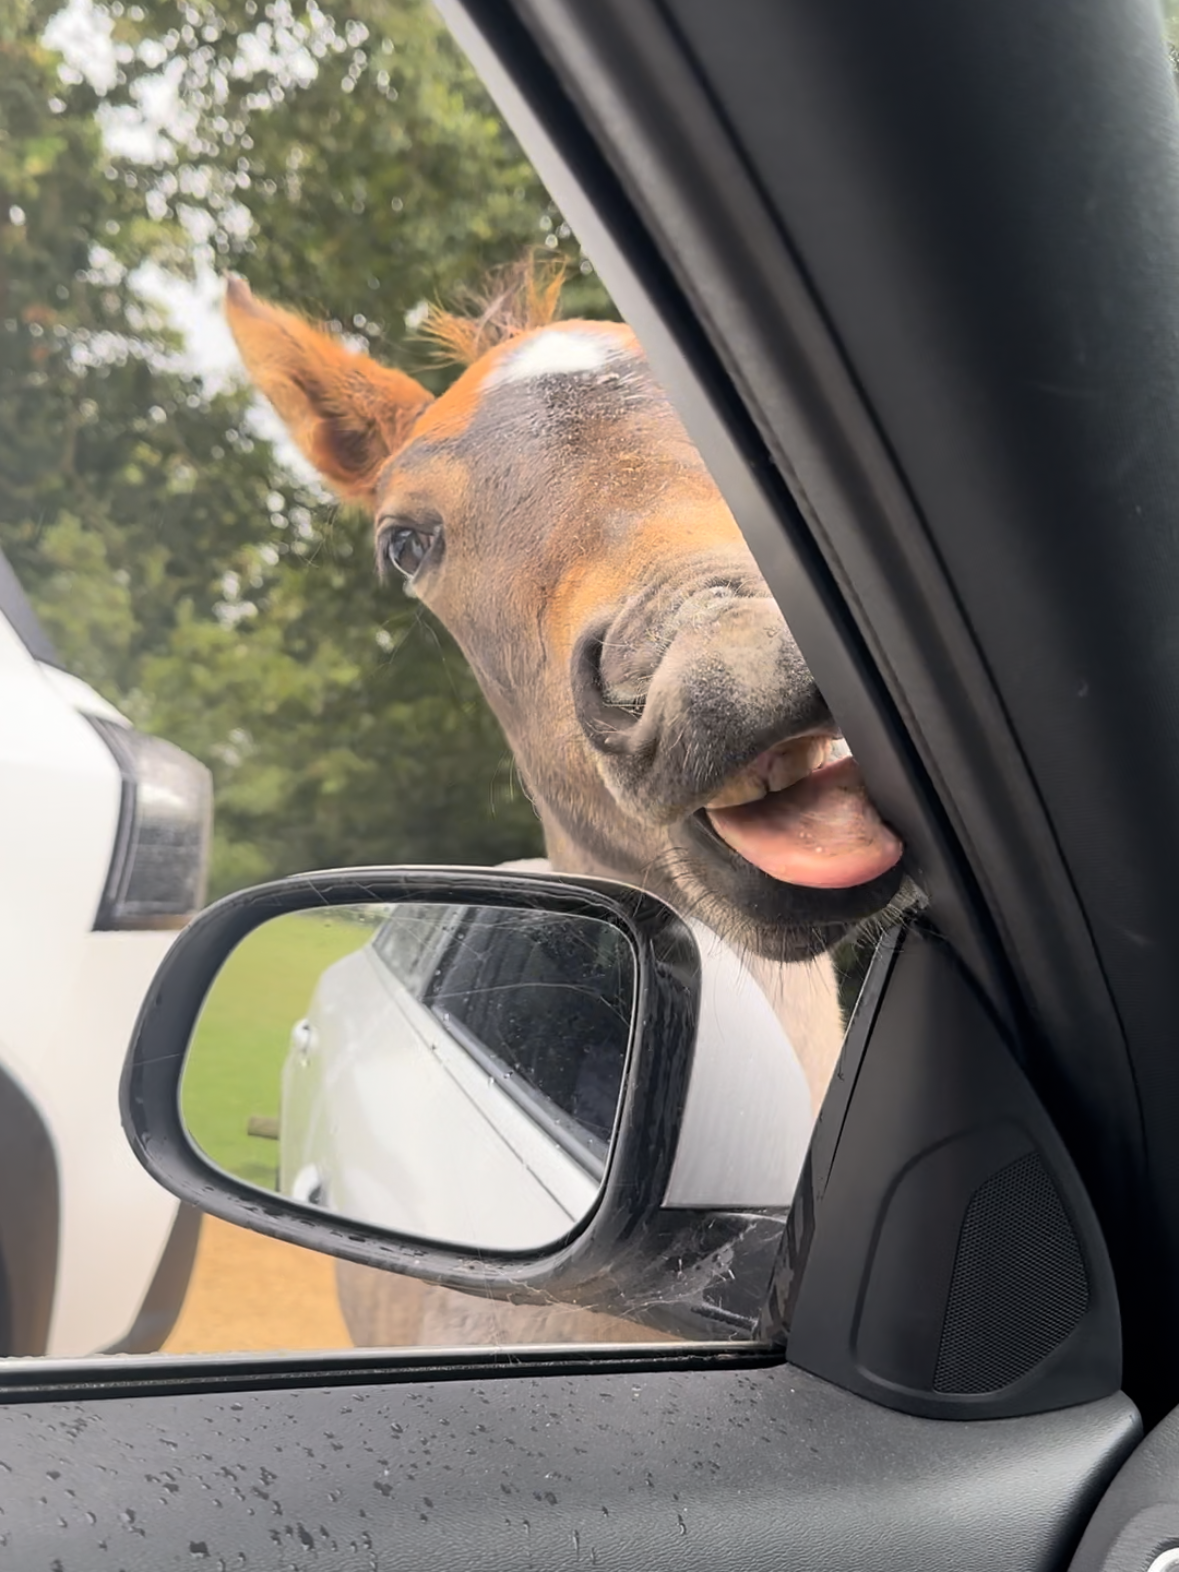
{"type": "Polygon", "coordinates": [[[285,1195],[314,1170],[332,1212],[472,1248],[560,1239],[599,1190],[371,945],[316,984],[280,1130],[285,1195]]]}

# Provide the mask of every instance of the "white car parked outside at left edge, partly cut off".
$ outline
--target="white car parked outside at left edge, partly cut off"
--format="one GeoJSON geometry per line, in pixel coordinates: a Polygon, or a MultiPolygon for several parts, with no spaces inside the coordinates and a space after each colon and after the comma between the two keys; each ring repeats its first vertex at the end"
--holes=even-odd
{"type": "Polygon", "coordinates": [[[201,905],[209,773],[63,671],[0,555],[0,1355],[149,1352],[200,1214],[132,1157],[118,1080],[201,905]]]}

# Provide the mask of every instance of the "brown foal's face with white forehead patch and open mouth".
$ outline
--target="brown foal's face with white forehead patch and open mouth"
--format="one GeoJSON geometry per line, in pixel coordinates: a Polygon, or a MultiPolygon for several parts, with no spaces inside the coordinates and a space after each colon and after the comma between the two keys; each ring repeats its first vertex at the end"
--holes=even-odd
{"type": "Polygon", "coordinates": [[[781,960],[896,896],[901,843],[629,329],[476,335],[431,399],[242,285],[228,314],[296,442],[369,511],[377,569],[470,660],[555,866],[781,960]]]}

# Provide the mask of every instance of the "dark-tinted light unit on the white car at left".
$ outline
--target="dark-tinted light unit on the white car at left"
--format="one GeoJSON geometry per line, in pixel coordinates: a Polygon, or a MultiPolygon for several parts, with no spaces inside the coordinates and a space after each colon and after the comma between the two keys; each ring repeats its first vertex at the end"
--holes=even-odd
{"type": "Polygon", "coordinates": [[[204,904],[212,777],[163,737],[86,718],[123,777],[119,827],[94,927],[182,927],[204,904]]]}

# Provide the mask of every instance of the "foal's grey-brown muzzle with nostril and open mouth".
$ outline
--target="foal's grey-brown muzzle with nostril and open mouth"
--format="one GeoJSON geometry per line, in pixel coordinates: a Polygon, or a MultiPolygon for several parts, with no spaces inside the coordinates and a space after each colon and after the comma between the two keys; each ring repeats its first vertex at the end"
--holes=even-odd
{"type": "Polygon", "coordinates": [[[689,835],[756,904],[762,879],[811,891],[816,916],[899,880],[904,847],[766,593],[698,596],[662,624],[632,607],[582,635],[571,684],[619,811],[689,835]]]}

